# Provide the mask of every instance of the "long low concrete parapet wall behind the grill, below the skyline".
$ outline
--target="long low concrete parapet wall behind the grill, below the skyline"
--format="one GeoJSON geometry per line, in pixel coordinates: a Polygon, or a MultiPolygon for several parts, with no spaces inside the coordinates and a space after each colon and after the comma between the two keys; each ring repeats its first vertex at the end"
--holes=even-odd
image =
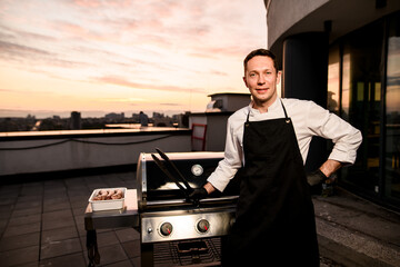
{"type": "Polygon", "coordinates": [[[153,152],[156,147],[166,152],[190,151],[190,130],[108,134],[103,137],[82,135],[72,138],[62,135],[1,137],[0,176],[134,165],[140,152],[153,152]],[[62,144],[39,147],[57,142],[62,144]],[[39,148],[23,149],[30,147],[39,148]]]}

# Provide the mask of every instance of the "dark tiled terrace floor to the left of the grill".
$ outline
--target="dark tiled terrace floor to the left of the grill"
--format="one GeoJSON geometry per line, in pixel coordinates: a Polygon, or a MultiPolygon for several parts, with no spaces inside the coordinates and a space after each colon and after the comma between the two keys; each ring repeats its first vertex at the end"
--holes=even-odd
{"type": "MultiPolygon", "coordinates": [[[[88,266],[84,209],[96,188],[136,188],[134,174],[53,179],[0,187],[0,266],[88,266]]],[[[98,231],[101,266],[140,266],[132,228],[98,231]]]]}

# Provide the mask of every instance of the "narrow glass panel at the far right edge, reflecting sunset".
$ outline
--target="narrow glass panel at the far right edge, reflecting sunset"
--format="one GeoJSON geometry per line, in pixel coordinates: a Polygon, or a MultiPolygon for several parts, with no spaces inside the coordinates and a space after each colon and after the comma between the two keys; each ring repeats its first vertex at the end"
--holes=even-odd
{"type": "Polygon", "coordinates": [[[389,22],[386,91],[386,189],[384,195],[400,200],[400,19],[389,22]]]}

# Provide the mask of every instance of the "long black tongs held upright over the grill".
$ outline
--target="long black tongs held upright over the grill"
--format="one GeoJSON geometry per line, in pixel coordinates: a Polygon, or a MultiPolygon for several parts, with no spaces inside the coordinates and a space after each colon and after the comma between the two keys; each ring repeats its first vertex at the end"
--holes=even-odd
{"type": "Polygon", "coordinates": [[[177,166],[168,158],[168,156],[159,148],[156,148],[156,150],[163,159],[160,160],[156,155],[151,154],[151,157],[153,158],[156,165],[169,179],[171,179],[178,186],[178,188],[184,194],[186,199],[190,200],[189,195],[193,191],[193,188],[190,187],[188,180],[179,171],[177,166]],[[173,176],[168,168],[172,169],[178,176],[173,176]],[[184,187],[181,185],[181,182],[183,182],[184,187]]]}

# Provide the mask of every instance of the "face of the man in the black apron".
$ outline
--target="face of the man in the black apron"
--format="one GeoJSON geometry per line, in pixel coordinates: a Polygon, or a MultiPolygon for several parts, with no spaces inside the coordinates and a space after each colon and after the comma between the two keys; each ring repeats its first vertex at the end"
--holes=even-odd
{"type": "Polygon", "coordinates": [[[280,73],[277,73],[271,58],[256,56],[250,59],[243,80],[257,106],[267,105],[269,107],[277,99],[280,73]]]}

